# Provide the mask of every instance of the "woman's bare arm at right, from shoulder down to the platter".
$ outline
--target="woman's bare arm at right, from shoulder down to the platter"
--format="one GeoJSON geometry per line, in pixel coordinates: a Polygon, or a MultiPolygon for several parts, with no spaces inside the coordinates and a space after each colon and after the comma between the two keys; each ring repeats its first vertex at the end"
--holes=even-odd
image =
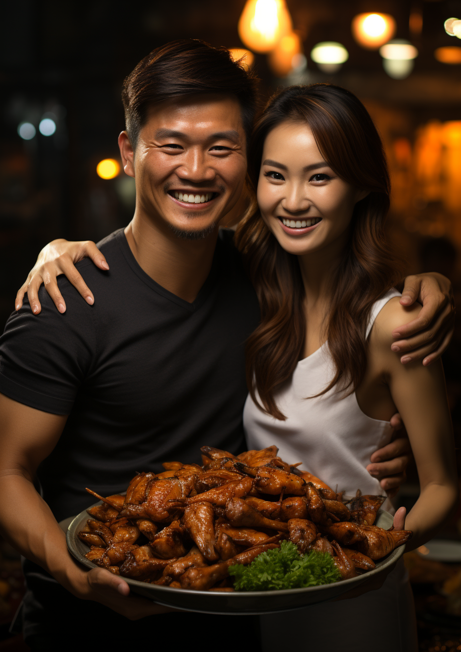
{"type": "Polygon", "coordinates": [[[398,354],[389,350],[394,329],[408,317],[417,319],[420,310],[418,305],[408,309],[391,299],[370,336],[371,354],[378,355],[383,378],[406,424],[419,475],[421,494],[405,522],[414,533],[411,548],[428,541],[458,501],[453,428],[441,363],[402,365],[398,354]]]}

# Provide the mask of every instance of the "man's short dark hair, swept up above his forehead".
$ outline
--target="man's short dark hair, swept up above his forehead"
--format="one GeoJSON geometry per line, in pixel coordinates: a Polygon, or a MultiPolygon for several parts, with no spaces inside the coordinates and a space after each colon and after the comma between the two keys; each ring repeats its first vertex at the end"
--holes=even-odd
{"type": "Polygon", "coordinates": [[[234,95],[242,110],[248,143],[256,111],[258,78],[226,48],[201,40],[175,40],[156,48],[123,82],[126,131],[136,147],[149,106],[184,95],[234,95]]]}

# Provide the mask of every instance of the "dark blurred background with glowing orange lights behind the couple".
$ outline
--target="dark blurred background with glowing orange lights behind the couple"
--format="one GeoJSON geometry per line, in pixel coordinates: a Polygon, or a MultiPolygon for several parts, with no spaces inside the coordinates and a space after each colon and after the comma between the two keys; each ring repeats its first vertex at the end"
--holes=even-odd
{"type": "MultiPolygon", "coordinates": [[[[445,274],[461,306],[461,0],[16,0],[2,15],[2,330],[44,244],[98,241],[130,221],[134,180],[117,148],[123,78],[156,46],[189,37],[245,55],[261,101],[312,82],[359,96],[389,156],[389,234],[406,272],[445,274]]],[[[460,362],[457,327],[444,365],[458,446],[460,362]]],[[[418,492],[412,467],[398,501],[411,507],[418,492]]],[[[461,650],[460,539],[457,514],[438,543],[407,555],[421,650],[461,650]]],[[[0,650],[28,649],[8,634],[19,561],[0,550],[0,650]]]]}

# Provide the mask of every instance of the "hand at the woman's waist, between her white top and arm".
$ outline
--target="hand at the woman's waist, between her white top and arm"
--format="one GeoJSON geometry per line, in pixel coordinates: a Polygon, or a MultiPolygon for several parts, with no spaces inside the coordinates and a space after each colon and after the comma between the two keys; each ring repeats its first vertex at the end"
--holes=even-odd
{"type": "Polygon", "coordinates": [[[402,482],[406,481],[405,471],[411,459],[411,446],[400,415],[394,414],[391,426],[394,432],[401,432],[387,446],[375,451],[370,457],[371,464],[366,467],[368,473],[379,480],[389,497],[395,496],[402,482]]]}

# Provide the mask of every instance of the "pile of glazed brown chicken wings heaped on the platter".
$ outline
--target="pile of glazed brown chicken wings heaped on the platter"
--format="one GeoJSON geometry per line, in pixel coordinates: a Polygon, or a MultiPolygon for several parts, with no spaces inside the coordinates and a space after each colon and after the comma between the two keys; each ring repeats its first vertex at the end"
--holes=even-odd
{"type": "Polygon", "coordinates": [[[203,466],[165,462],[162,473],[139,473],[126,496],[102,497],[78,533],[94,564],[149,584],[233,591],[228,569],[247,565],[289,539],[301,554],[333,556],[342,579],[411,537],[374,525],[383,496],[344,503],[320,479],[277,456],[276,446],[234,456],[201,448],[203,466]]]}

